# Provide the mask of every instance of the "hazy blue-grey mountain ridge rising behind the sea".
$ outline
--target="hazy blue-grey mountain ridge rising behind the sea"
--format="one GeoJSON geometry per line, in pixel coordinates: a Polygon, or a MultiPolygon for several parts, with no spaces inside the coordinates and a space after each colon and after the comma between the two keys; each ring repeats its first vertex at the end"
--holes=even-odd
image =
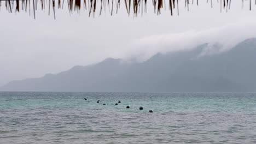
{"type": "Polygon", "coordinates": [[[107,58],[37,79],[12,81],[1,91],[255,92],[256,39],[233,49],[200,56],[193,51],[156,54],[146,62],[107,58]]]}

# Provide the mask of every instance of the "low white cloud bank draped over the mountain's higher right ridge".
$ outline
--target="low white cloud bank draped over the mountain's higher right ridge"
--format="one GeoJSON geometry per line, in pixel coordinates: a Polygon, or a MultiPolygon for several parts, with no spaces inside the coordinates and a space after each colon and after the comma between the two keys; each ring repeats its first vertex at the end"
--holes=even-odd
{"type": "Polygon", "coordinates": [[[254,20],[244,17],[239,22],[203,31],[191,30],[182,33],[150,35],[133,41],[133,49],[130,49],[126,59],[146,61],[158,52],[190,51],[205,43],[208,46],[200,56],[225,52],[243,40],[256,37],[255,26],[254,20]]]}

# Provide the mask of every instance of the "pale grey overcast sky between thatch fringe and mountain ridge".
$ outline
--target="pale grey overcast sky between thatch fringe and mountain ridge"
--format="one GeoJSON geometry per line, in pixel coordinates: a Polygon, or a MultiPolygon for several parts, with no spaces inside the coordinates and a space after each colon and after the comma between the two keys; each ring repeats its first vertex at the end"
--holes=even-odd
{"type": "MultiPolygon", "coordinates": [[[[104,58],[146,60],[157,52],[191,49],[202,43],[220,43],[225,51],[240,41],[256,37],[256,6],[249,11],[249,1],[232,1],[231,10],[220,13],[206,0],[199,7],[174,9],[153,14],[152,3],[143,17],[127,16],[124,4],[118,14],[108,12],[88,17],[88,11],[69,15],[57,10],[56,20],[37,11],[36,20],[28,13],[9,14],[1,8],[0,86],[12,80],[59,73],[74,65],[88,65],[104,58]]],[[[211,52],[211,49],[209,49],[211,52]]]]}

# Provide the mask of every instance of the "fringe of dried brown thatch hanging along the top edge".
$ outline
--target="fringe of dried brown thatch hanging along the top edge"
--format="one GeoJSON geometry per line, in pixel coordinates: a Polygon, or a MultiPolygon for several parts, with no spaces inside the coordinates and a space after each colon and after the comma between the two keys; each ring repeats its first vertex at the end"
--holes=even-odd
{"type": "MultiPolygon", "coordinates": [[[[9,11],[9,13],[12,13],[14,8],[16,12],[20,12],[21,10],[27,11],[27,7],[28,7],[29,14],[30,14],[30,1],[32,1],[33,15],[34,15],[34,19],[36,19],[36,11],[38,10],[37,9],[38,3],[40,3],[40,7],[42,8],[42,10],[45,10],[45,4],[47,3],[48,0],[0,0],[0,8],[2,7],[2,3],[1,3],[2,1],[5,1],[5,7],[7,11],[9,11]],[[20,1],[21,1],[21,4],[20,4],[20,1]]],[[[57,8],[60,9],[61,3],[62,3],[62,9],[63,9],[64,8],[63,5],[65,1],[67,2],[67,5],[68,5],[67,8],[70,13],[72,13],[73,9],[79,11],[81,9],[82,4],[84,5],[84,9],[87,9],[87,5],[88,5],[89,16],[91,15],[91,13],[93,14],[96,13],[97,7],[99,8],[98,11],[100,12],[100,15],[101,15],[102,9],[106,11],[106,6],[109,9],[110,15],[113,15],[113,10],[115,9],[116,13],[118,13],[118,9],[122,8],[120,7],[122,3],[125,4],[125,9],[128,15],[130,15],[131,4],[132,4],[133,14],[137,16],[138,13],[143,14],[143,10],[144,10],[144,13],[147,12],[147,3],[148,3],[147,0],[88,0],[88,2],[86,2],[86,0],[56,0],[57,8]],[[100,3],[97,3],[97,1],[100,1],[100,3]],[[114,1],[116,4],[115,8],[114,8],[114,1]],[[143,9],[143,5],[144,5],[144,9],[143,9]]],[[[165,7],[164,5],[166,4],[166,1],[167,0],[152,0],[154,12],[157,15],[161,14],[161,9],[165,7]]],[[[173,9],[175,8],[177,8],[177,15],[179,15],[179,1],[181,0],[167,1],[171,15],[173,15],[173,9]]],[[[182,0],[182,1],[185,2],[185,7],[188,10],[189,10],[189,5],[194,4],[194,0],[192,0],[192,2],[190,1],[191,3],[189,2],[189,0],[182,0]]],[[[202,0],[202,1],[205,1],[205,0],[202,0]]],[[[243,3],[245,1],[244,0],[241,0],[241,1],[242,1],[242,7],[243,7],[243,3]]],[[[209,0],[207,0],[207,3],[208,2],[209,0]]],[[[226,11],[228,11],[228,9],[230,9],[231,7],[230,6],[231,0],[220,0],[220,2],[219,0],[217,0],[217,2],[220,3],[220,12],[222,12],[222,9],[225,9],[225,8],[226,8],[226,11]]],[[[255,0],[255,4],[256,4],[256,0],[255,0]]],[[[196,5],[199,5],[199,0],[196,0],[196,5]]],[[[211,7],[213,7],[212,0],[211,0],[211,7]]],[[[53,14],[55,18],[55,0],[49,0],[49,15],[50,15],[51,8],[53,8],[53,14]]],[[[249,0],[249,10],[252,10],[252,0],[249,0]]]]}

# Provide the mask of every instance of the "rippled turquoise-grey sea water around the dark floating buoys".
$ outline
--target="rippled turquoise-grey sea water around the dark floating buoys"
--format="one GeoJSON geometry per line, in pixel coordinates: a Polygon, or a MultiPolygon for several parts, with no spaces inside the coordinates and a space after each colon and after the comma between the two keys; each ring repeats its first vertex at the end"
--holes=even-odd
{"type": "Polygon", "coordinates": [[[256,93],[0,92],[0,143],[256,143],[256,93]]]}

